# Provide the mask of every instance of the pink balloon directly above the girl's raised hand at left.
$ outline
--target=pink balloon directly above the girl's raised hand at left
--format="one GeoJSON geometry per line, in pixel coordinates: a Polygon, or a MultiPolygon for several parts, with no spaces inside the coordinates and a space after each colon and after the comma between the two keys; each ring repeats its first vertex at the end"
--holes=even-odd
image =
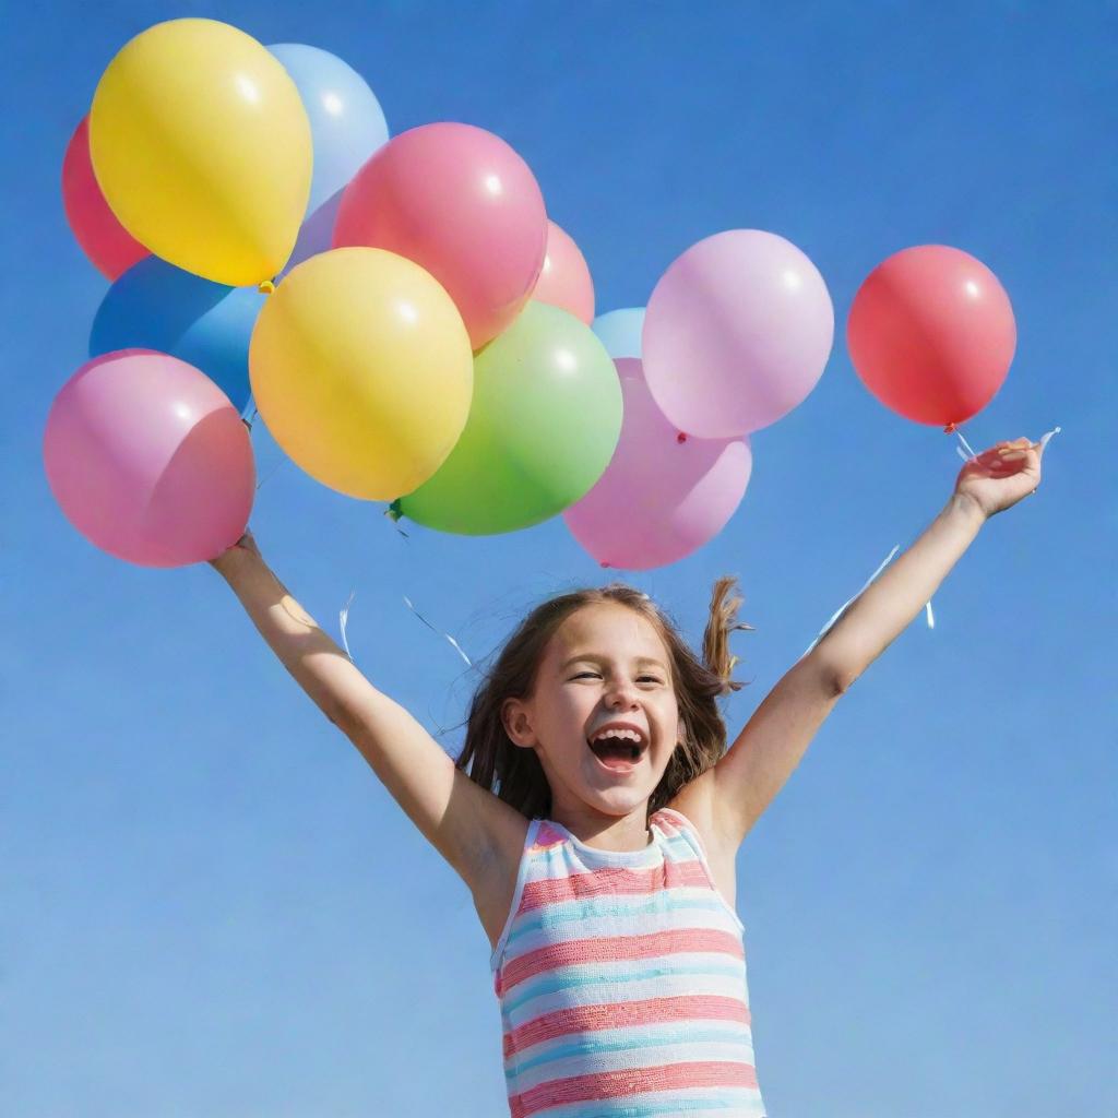
{"type": "Polygon", "coordinates": [[[142,567],[220,555],[244,533],[256,492],[248,429],[229,398],[154,350],[82,366],[50,407],[42,457],[69,522],[142,567]]]}

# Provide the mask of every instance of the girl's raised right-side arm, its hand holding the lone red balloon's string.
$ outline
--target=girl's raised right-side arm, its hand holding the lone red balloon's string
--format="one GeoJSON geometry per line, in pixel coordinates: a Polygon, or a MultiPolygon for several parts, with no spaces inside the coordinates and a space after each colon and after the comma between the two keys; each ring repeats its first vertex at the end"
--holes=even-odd
{"type": "Polygon", "coordinates": [[[713,769],[711,824],[736,850],[799,764],[839,698],[903,632],[994,513],[1040,484],[1043,447],[999,443],[959,472],[917,542],[840,616],[754,712],[713,769]]]}

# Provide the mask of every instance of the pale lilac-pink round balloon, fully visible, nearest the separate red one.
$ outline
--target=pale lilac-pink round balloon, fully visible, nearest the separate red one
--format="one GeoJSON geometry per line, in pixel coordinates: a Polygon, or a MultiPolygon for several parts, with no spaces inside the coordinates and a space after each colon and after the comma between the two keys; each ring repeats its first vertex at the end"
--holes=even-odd
{"type": "Polygon", "coordinates": [[[823,276],[795,245],[731,229],[692,245],[656,284],[642,335],[644,372],[682,430],[741,435],[803,402],[827,363],[834,330],[823,276]]]}

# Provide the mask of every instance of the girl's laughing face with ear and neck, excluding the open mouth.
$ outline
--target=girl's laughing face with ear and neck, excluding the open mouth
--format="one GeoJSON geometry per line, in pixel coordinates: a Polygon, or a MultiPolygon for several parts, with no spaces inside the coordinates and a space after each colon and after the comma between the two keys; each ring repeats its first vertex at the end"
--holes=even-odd
{"type": "Polygon", "coordinates": [[[531,698],[508,700],[502,713],[510,739],[536,750],[560,822],[645,811],[682,733],[663,642],[638,613],[613,603],[571,614],[548,645],[531,698]],[[636,759],[590,748],[595,733],[618,722],[641,739],[636,759]]]}

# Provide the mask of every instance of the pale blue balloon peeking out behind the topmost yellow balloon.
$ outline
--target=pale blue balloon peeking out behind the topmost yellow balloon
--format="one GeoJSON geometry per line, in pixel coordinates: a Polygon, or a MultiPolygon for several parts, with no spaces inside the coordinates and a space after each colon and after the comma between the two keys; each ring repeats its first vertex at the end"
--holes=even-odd
{"type": "Polygon", "coordinates": [[[314,174],[306,220],[388,141],[388,123],[364,78],[329,50],[281,42],[268,50],[283,63],[311,121],[314,174]]]}

